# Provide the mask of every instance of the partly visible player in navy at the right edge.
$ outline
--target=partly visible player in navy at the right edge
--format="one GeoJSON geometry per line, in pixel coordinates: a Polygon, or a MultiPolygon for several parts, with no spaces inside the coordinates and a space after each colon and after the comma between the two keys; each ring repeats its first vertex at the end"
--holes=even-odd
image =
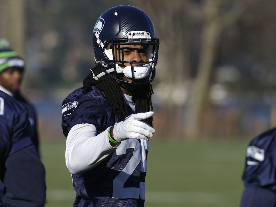
{"type": "Polygon", "coordinates": [[[276,206],[276,128],[255,137],[246,149],[240,207],[276,206]]]}

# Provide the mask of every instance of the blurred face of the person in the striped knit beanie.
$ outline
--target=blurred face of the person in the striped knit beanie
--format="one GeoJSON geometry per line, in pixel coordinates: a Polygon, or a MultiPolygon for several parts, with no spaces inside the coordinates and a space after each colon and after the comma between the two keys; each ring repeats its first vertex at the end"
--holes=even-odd
{"type": "Polygon", "coordinates": [[[15,93],[19,90],[23,70],[21,68],[8,68],[0,73],[0,85],[15,93]]]}

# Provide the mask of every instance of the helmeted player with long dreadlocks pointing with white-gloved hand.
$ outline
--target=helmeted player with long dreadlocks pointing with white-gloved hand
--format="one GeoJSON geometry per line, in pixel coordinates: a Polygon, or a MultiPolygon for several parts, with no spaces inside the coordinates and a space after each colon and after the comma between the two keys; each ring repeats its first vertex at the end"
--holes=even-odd
{"type": "Polygon", "coordinates": [[[134,6],[98,18],[96,65],[62,106],[74,206],[144,206],[158,46],[152,20],[134,6]]]}

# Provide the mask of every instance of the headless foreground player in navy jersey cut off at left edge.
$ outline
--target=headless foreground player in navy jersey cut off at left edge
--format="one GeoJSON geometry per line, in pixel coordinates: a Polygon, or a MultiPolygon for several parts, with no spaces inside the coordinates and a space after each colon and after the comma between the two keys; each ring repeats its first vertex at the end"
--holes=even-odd
{"type": "Polygon", "coordinates": [[[43,207],[45,169],[29,135],[27,109],[0,90],[0,206],[43,207]]]}

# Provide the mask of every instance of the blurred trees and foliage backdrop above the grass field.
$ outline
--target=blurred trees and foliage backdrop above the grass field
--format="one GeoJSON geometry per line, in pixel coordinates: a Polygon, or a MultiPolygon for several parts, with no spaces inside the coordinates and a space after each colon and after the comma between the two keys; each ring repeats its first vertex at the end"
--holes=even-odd
{"type": "Polygon", "coordinates": [[[156,137],[248,138],[276,125],[276,1],[0,0],[0,37],[26,60],[42,138],[63,138],[62,100],[95,64],[94,24],[122,4],[145,11],[160,38],[156,137]]]}

